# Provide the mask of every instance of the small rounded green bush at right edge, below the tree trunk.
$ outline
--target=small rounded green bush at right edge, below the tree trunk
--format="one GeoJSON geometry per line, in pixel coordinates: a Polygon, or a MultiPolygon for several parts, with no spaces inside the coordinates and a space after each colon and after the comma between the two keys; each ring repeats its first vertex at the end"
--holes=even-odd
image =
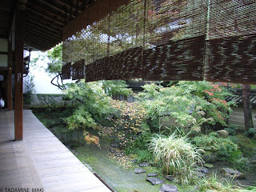
{"type": "Polygon", "coordinates": [[[236,138],[237,138],[236,143],[242,150],[242,153],[244,154],[244,156],[251,157],[255,153],[254,151],[255,146],[253,142],[250,141],[250,138],[246,138],[246,136],[242,134],[238,134],[236,138]]]}

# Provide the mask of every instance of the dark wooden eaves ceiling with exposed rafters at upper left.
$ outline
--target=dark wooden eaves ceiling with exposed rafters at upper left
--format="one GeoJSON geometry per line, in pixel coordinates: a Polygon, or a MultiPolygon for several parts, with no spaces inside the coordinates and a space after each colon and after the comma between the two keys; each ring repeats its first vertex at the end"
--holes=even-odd
{"type": "MultiPolygon", "coordinates": [[[[8,38],[14,18],[15,0],[0,2],[0,38],[8,38]]],[[[62,42],[63,27],[96,0],[27,0],[25,44],[49,50],[62,42]]]]}

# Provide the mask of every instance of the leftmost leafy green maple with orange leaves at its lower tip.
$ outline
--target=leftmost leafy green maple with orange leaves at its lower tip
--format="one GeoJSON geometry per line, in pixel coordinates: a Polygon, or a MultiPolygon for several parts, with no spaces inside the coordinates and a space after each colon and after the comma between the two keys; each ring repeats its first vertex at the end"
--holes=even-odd
{"type": "Polygon", "coordinates": [[[90,134],[86,129],[102,130],[102,126],[97,121],[107,118],[113,112],[111,98],[105,94],[100,82],[80,81],[70,83],[67,87],[66,96],[76,108],[70,117],[64,119],[67,127],[70,130],[82,128],[86,142],[99,146],[98,137],[90,134]]]}

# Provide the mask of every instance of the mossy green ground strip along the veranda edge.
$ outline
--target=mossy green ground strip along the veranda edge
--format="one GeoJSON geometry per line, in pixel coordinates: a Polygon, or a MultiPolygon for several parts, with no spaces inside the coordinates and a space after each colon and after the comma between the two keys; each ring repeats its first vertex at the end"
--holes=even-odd
{"type": "MultiPolygon", "coordinates": [[[[161,185],[153,186],[146,182],[147,173],[158,173],[158,178],[166,183],[174,184],[162,178],[161,170],[154,166],[144,169],[146,173],[134,174],[139,167],[122,151],[110,147],[111,138],[100,138],[100,145],[87,145],[82,140],[79,130],[67,130],[62,120],[62,113],[46,114],[43,110],[34,110],[37,118],[62,141],[92,172],[96,172],[113,190],[118,192],[156,192],[161,185]]],[[[68,114],[68,113],[67,113],[68,114]]],[[[92,130],[93,131],[93,130],[92,130]]],[[[194,191],[194,186],[178,186],[179,191],[194,191]]]]}

